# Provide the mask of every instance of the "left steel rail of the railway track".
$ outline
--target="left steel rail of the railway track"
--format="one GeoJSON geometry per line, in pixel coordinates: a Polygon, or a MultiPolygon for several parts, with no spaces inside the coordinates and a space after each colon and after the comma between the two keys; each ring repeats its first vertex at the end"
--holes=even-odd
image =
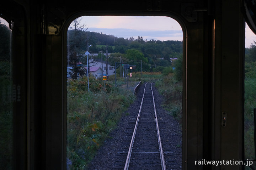
{"type": "MultiPolygon", "coordinates": [[[[146,84],[148,84],[148,82],[146,84]]],[[[129,150],[128,150],[128,154],[127,154],[126,164],[124,166],[124,170],[128,170],[128,168],[129,168],[130,157],[132,155],[132,147],[133,147],[133,143],[134,143],[134,139],[135,139],[138,123],[139,123],[139,117],[140,117],[140,112],[141,112],[141,109],[142,109],[142,103],[143,103],[143,100],[144,100],[146,84],[145,84],[145,87],[144,87],[142,102],[140,104],[140,109],[139,109],[139,113],[138,113],[138,116],[137,116],[136,124],[135,124],[134,130],[133,130],[133,136],[132,136],[132,140],[130,142],[130,147],[129,147],[129,150]]]]}

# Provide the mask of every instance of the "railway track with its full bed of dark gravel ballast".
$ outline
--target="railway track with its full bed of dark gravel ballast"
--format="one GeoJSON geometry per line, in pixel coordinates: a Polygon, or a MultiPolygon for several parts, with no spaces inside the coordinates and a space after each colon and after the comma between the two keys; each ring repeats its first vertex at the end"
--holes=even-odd
{"type": "Polygon", "coordinates": [[[159,95],[155,98],[153,95],[158,93],[152,89],[154,83],[140,87],[137,102],[92,161],[90,170],[182,169],[181,130],[160,107],[159,95]]]}

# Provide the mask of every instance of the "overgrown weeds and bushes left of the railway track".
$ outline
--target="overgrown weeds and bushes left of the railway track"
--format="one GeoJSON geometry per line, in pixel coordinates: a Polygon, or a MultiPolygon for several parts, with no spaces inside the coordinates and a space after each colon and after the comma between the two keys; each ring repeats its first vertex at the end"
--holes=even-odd
{"type": "Polygon", "coordinates": [[[135,96],[93,77],[69,80],[67,169],[85,169],[135,96]]]}

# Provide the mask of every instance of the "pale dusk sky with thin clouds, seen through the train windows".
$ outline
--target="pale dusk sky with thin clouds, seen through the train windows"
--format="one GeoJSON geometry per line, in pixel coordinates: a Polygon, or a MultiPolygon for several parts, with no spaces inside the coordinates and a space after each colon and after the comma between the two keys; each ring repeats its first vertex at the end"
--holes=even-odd
{"type": "MultiPolygon", "coordinates": [[[[2,18],[1,23],[9,24],[2,18]]],[[[117,37],[144,40],[183,40],[180,24],[175,19],[161,16],[84,16],[80,22],[91,32],[111,34],[117,37]]],[[[250,47],[256,40],[256,35],[245,27],[245,47],[250,47]]]]}

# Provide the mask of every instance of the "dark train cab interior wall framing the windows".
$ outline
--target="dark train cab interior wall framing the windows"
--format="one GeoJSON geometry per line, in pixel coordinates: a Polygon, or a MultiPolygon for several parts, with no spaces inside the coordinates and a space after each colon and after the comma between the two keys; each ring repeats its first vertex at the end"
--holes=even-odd
{"type": "MultiPolygon", "coordinates": [[[[12,31],[12,169],[66,169],[66,51],[80,16],[167,16],[183,31],[182,169],[240,170],[245,160],[245,22],[254,0],[6,0],[12,31]]],[[[1,94],[4,96],[6,94],[1,94]]],[[[3,147],[3,146],[1,146],[3,147]]],[[[255,162],[254,162],[255,164],[255,162]]]]}

